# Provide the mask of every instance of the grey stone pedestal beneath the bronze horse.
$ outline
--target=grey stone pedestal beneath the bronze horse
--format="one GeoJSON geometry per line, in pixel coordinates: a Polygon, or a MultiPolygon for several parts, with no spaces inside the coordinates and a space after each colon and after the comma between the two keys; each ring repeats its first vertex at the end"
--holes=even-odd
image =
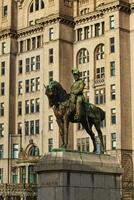
{"type": "Polygon", "coordinates": [[[39,200],[120,200],[122,169],[116,158],[52,152],[37,164],[39,200]]]}

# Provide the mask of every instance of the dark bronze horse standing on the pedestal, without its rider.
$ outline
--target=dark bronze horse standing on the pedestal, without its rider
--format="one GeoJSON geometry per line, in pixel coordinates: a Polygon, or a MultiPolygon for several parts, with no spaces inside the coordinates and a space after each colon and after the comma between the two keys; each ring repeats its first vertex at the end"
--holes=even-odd
{"type": "MultiPolygon", "coordinates": [[[[68,94],[57,81],[52,81],[46,86],[45,94],[48,97],[49,106],[53,108],[56,116],[62,139],[62,147],[67,148],[69,122],[78,123],[74,119],[75,110],[72,111],[70,108],[70,94],[68,94]]],[[[95,126],[100,139],[101,152],[104,152],[103,136],[100,129],[100,122],[104,119],[105,112],[101,108],[88,102],[83,102],[80,123],[92,139],[94,147],[93,152],[96,152],[97,150],[95,134],[92,131],[93,125],[95,126]]]]}

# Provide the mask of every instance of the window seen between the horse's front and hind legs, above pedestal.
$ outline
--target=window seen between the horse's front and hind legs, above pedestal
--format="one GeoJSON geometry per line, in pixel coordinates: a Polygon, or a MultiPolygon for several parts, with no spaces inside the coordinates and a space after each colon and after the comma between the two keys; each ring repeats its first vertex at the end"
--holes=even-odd
{"type": "Polygon", "coordinates": [[[89,152],[89,138],[77,139],[77,150],[81,152],[89,152]]]}

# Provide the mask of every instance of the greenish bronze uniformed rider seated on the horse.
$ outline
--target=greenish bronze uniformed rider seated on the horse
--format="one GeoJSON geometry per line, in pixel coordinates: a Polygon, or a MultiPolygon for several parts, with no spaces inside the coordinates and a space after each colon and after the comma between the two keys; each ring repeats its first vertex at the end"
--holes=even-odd
{"type": "Polygon", "coordinates": [[[79,122],[81,118],[81,106],[82,102],[84,102],[85,98],[83,95],[83,90],[85,87],[84,81],[80,79],[80,72],[78,69],[72,70],[74,83],[71,86],[71,107],[76,107],[76,114],[74,116],[74,119],[79,122]]]}

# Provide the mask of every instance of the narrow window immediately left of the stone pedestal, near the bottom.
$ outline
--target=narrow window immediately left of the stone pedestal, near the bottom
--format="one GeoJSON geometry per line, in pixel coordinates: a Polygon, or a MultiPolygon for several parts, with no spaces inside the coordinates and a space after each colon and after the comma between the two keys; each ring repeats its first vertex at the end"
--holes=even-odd
{"type": "Polygon", "coordinates": [[[34,171],[34,166],[28,166],[28,183],[35,184],[37,180],[36,173],[34,171]]]}

